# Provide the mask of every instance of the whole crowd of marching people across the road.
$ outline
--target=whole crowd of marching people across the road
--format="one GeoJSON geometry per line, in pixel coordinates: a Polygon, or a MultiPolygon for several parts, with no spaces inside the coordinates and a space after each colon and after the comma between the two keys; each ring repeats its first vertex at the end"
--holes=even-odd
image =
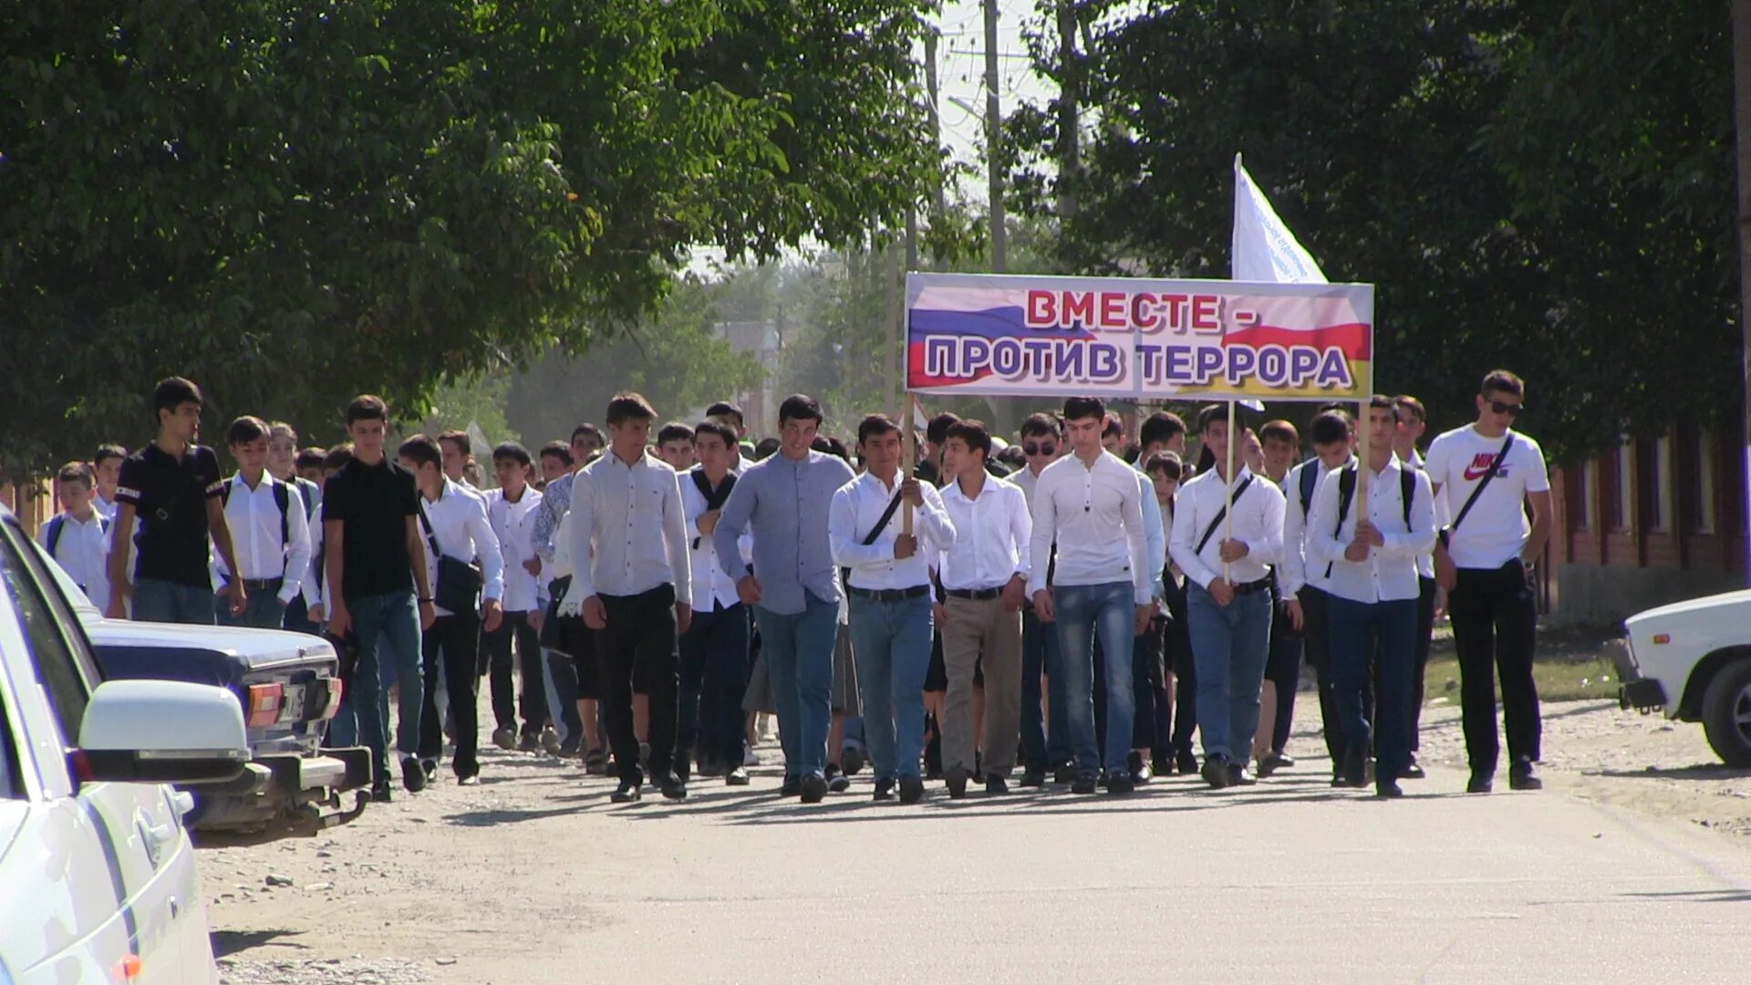
{"type": "Polygon", "coordinates": [[[1543,452],[1513,426],[1525,386],[1488,373],[1474,421],[1420,447],[1425,408],[1322,407],[1306,440],[1231,405],[1135,438],[1098,398],[1014,440],[942,414],[821,431],[809,396],[748,443],[742,412],[658,424],[639,394],[531,454],[462,431],[390,445],[375,396],[347,443],[299,447],[238,417],[236,471],[198,443],[203,396],[154,393],[158,433],[56,475],[39,540],[110,619],[326,634],[347,680],[331,745],[364,745],[418,792],[478,782],[490,741],[685,799],[749,783],[774,715],[788,797],[876,801],[1157,775],[1245,787],[1297,766],[1303,663],[1334,787],[1403,796],[1436,619],[1459,652],[1467,790],[1537,789],[1534,564],[1550,535],[1543,452]],[[1196,442],[1196,459],[1189,456],[1196,442]],[[1311,456],[1308,456],[1308,450],[1311,456]],[[1304,457],[1308,456],[1308,457],[1304,457]],[[394,722],[394,731],[390,731],[394,722]],[[1019,771],[1019,776],[1016,775],[1019,771]]]}

